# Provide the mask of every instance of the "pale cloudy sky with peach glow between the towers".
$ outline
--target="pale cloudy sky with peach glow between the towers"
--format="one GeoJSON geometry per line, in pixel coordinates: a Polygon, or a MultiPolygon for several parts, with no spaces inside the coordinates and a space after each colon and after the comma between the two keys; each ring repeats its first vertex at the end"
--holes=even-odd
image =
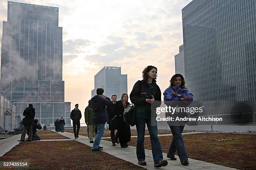
{"type": "MultiPolygon", "coordinates": [[[[94,75],[105,65],[128,75],[128,93],[147,65],[158,68],[161,91],[168,87],[183,43],[182,8],[192,0],[13,1],[59,7],[65,101],[84,110],[94,75]]],[[[7,20],[7,0],[0,0],[0,20],[7,20]]]]}

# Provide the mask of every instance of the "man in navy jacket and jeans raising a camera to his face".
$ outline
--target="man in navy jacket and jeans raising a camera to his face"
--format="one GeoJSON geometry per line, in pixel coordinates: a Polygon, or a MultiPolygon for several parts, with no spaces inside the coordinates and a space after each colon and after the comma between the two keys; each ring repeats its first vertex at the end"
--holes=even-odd
{"type": "Polygon", "coordinates": [[[104,90],[97,88],[94,97],[91,99],[93,123],[97,125],[97,135],[92,146],[92,150],[102,150],[100,147],[100,140],[104,134],[105,123],[108,122],[108,112],[106,106],[110,104],[111,100],[107,96],[103,95],[104,90]]]}

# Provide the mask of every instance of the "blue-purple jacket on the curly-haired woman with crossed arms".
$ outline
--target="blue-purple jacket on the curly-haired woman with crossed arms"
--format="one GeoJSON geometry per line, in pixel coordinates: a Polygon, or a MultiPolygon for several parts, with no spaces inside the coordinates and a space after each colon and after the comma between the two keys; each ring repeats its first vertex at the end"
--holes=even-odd
{"type": "Polygon", "coordinates": [[[164,101],[180,101],[181,98],[186,96],[191,96],[191,98],[187,101],[192,101],[194,99],[193,94],[190,93],[187,88],[181,88],[173,85],[172,88],[168,87],[166,90],[164,90],[164,101]],[[178,95],[181,95],[181,97],[172,95],[172,92],[174,91],[177,92],[178,95]]]}

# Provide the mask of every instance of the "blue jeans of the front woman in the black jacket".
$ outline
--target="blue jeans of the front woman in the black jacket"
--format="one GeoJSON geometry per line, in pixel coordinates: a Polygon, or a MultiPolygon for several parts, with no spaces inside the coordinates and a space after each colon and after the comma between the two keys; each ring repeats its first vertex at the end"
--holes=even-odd
{"type": "MultiPolygon", "coordinates": [[[[136,154],[138,160],[145,160],[145,149],[144,149],[144,137],[145,137],[145,127],[147,124],[148,132],[151,140],[152,155],[154,159],[154,164],[159,160],[163,160],[163,153],[160,142],[157,137],[157,126],[151,126],[151,119],[144,119],[141,117],[136,117],[136,129],[137,129],[137,145],[136,154]]],[[[156,121],[154,119],[153,121],[156,121]]]]}

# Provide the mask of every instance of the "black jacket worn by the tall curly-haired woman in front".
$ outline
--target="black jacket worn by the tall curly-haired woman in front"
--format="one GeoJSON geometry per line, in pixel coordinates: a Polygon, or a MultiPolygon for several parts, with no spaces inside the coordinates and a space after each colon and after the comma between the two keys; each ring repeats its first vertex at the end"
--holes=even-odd
{"type": "MultiPolygon", "coordinates": [[[[161,90],[154,80],[152,80],[153,88],[150,88],[145,80],[138,80],[130,94],[130,99],[136,105],[136,117],[150,118],[151,104],[146,102],[146,98],[153,95],[155,101],[161,101],[161,90]]],[[[155,103],[159,107],[161,102],[155,103]]]]}

